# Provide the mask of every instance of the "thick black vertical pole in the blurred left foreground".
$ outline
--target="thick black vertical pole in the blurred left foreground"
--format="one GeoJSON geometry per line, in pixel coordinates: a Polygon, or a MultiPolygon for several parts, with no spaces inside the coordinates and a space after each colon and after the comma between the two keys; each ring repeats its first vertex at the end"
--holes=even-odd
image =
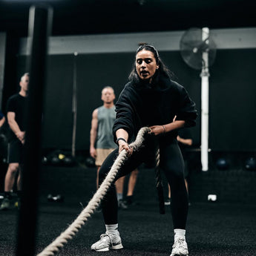
{"type": "Polygon", "coordinates": [[[30,85],[27,99],[27,122],[22,170],[22,202],[19,211],[17,256],[35,253],[37,200],[41,171],[42,105],[45,83],[47,41],[53,11],[47,6],[30,7],[29,36],[31,39],[30,85]]]}

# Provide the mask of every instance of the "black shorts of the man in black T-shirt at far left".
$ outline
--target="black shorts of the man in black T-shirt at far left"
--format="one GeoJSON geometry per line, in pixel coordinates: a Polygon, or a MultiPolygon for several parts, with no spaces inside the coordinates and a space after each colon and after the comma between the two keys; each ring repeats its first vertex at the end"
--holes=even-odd
{"type": "Polygon", "coordinates": [[[24,145],[19,140],[13,140],[8,144],[8,163],[23,163],[24,145]]]}

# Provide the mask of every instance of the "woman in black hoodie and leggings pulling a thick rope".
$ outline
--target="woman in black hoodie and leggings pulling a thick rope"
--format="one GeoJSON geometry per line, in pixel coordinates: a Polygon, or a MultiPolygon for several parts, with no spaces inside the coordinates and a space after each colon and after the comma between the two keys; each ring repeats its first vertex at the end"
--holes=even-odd
{"type": "MultiPolygon", "coordinates": [[[[184,182],[183,157],[177,145],[177,129],[195,125],[197,111],[185,88],[172,81],[169,73],[154,46],[141,45],[137,49],[134,68],[129,76],[130,82],[125,85],[116,102],[113,134],[119,148],[107,157],[100,168],[99,183],[105,179],[120,151],[127,151],[128,160],[119,169],[116,180],[137,168],[149,157],[154,157],[159,147],[160,167],[171,186],[174,226],[171,256],[174,256],[188,255],[185,238],[188,194],[184,182]],[[177,118],[173,122],[175,115],[177,118]],[[144,126],[151,128],[151,132],[140,151],[133,151],[128,142],[133,141],[144,126]]],[[[100,236],[98,242],[93,243],[91,249],[96,252],[122,249],[113,184],[102,200],[102,214],[106,232],[100,236]]]]}

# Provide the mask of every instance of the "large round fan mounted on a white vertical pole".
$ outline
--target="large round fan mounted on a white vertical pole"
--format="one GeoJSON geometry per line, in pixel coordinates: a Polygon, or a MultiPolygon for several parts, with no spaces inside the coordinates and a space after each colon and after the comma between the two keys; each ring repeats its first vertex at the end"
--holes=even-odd
{"type": "Polygon", "coordinates": [[[216,45],[208,27],[192,27],[180,39],[180,53],[186,64],[201,70],[201,163],[208,171],[209,151],[209,67],[216,56],[216,45]]]}

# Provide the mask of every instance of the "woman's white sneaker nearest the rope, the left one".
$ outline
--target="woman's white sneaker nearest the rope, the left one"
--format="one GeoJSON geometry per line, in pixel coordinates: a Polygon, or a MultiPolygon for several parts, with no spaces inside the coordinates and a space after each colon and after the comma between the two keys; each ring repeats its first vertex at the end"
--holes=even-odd
{"type": "Polygon", "coordinates": [[[107,252],[109,249],[122,249],[122,240],[118,234],[110,234],[109,232],[105,232],[100,236],[100,240],[96,243],[93,243],[91,249],[96,252],[107,252]]]}

